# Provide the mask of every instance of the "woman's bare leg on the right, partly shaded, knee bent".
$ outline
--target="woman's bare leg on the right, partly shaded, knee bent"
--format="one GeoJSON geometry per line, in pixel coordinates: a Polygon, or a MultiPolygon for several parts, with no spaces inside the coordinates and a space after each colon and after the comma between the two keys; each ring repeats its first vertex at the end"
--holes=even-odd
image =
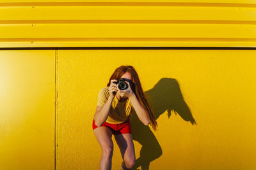
{"type": "Polygon", "coordinates": [[[134,166],[136,160],[132,134],[117,134],[115,135],[115,139],[124,160],[122,162],[121,170],[131,169],[134,166]]]}

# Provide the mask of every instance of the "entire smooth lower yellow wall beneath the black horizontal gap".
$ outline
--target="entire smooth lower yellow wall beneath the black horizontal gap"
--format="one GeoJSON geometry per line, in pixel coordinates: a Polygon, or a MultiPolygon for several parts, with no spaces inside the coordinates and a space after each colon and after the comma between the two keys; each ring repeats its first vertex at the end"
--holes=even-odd
{"type": "MultiPolygon", "coordinates": [[[[138,169],[255,169],[255,54],[3,50],[0,169],[98,169],[101,152],[92,131],[97,94],[122,64],[137,69],[159,124],[155,132],[133,113],[138,169]]],[[[118,169],[122,157],[113,141],[118,169]]]]}

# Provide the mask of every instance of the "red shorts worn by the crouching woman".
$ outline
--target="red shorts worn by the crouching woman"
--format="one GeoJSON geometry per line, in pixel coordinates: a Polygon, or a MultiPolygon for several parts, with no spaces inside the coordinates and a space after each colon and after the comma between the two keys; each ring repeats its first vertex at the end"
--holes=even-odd
{"type": "MultiPolygon", "coordinates": [[[[125,134],[129,133],[131,134],[131,125],[130,125],[130,119],[127,118],[127,120],[121,124],[109,124],[108,122],[104,122],[101,126],[108,127],[113,134],[125,134]]],[[[94,119],[92,121],[92,129],[94,130],[97,128],[97,125],[95,125],[94,119]]]]}

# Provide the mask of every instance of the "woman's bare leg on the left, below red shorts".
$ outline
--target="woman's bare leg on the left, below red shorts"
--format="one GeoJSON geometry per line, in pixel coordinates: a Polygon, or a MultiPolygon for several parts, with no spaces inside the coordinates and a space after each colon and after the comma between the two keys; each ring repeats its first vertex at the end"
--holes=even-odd
{"type": "Polygon", "coordinates": [[[112,132],[106,126],[97,127],[93,130],[97,141],[100,144],[102,155],[100,157],[100,170],[111,170],[113,156],[112,132]]]}

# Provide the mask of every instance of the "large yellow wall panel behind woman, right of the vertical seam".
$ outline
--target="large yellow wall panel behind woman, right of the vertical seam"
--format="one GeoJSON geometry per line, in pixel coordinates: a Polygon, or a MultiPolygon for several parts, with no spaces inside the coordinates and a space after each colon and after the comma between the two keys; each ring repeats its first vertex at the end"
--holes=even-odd
{"type": "MultiPolygon", "coordinates": [[[[123,64],[138,71],[159,125],[155,132],[133,113],[138,169],[256,169],[255,55],[58,50],[57,169],[99,169],[101,150],[92,130],[97,95],[123,64]]],[[[122,157],[112,139],[112,169],[119,169],[122,157]]]]}

